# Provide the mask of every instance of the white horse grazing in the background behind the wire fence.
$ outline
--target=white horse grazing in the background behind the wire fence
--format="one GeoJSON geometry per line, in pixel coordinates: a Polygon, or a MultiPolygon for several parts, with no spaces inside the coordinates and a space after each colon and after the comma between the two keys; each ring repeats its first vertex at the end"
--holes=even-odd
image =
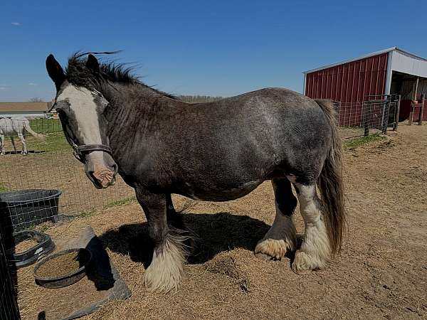
{"type": "Polygon", "coordinates": [[[21,154],[28,154],[28,150],[26,148],[25,137],[23,135],[24,131],[33,135],[38,139],[45,139],[43,134],[38,134],[33,132],[30,127],[30,122],[25,117],[11,117],[9,118],[1,118],[0,119],[0,155],[6,154],[4,150],[4,137],[10,137],[12,146],[14,146],[14,151],[16,153],[16,146],[14,142],[14,137],[18,136],[22,142],[22,151],[21,154]]]}

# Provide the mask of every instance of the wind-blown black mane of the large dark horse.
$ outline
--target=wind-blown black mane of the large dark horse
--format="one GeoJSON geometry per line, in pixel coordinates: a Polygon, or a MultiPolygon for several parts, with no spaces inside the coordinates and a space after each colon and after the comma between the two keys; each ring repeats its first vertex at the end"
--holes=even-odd
{"type": "Polygon", "coordinates": [[[130,85],[142,85],[148,87],[160,95],[177,99],[174,95],[155,89],[142,82],[139,76],[132,74],[132,67],[126,63],[115,63],[107,61],[100,63],[100,73],[93,73],[86,67],[86,53],[74,53],[68,58],[68,65],[65,68],[65,77],[73,85],[99,89],[104,82],[121,82],[130,85]]]}

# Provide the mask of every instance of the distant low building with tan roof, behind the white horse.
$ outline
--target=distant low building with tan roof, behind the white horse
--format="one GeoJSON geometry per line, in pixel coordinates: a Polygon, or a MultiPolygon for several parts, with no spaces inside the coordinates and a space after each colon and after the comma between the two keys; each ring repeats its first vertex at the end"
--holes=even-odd
{"type": "Polygon", "coordinates": [[[14,117],[46,117],[52,102],[0,102],[0,118],[14,117]]]}

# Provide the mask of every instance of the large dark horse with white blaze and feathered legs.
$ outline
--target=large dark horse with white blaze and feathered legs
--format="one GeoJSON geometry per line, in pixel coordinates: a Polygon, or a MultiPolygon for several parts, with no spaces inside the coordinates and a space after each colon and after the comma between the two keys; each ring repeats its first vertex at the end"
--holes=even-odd
{"type": "Polygon", "coordinates": [[[93,185],[107,188],[118,173],[135,189],[154,244],[144,272],[149,289],[177,289],[189,254],[189,233],[172,193],[230,201],[268,180],[275,219],[255,255],[280,260],[295,252],[297,274],[327,267],[346,225],[341,142],[330,101],[264,88],[189,104],[145,85],[132,68],[100,63],[97,54],[75,53],[65,71],[48,55],[53,107],[93,185]],[[297,201],[305,221],[299,247],[292,219],[297,201]]]}

